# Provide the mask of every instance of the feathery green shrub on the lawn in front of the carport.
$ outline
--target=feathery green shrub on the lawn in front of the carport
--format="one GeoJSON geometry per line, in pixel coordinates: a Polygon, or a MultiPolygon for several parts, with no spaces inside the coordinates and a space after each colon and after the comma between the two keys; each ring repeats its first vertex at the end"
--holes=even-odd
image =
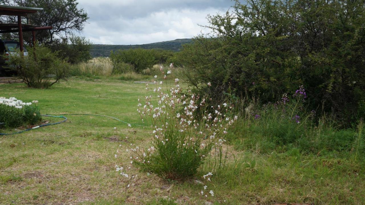
{"type": "Polygon", "coordinates": [[[27,56],[19,50],[11,54],[7,57],[7,64],[28,87],[48,88],[69,76],[69,63],[58,58],[57,53],[52,53],[49,48],[36,45],[27,50],[27,56]]]}

